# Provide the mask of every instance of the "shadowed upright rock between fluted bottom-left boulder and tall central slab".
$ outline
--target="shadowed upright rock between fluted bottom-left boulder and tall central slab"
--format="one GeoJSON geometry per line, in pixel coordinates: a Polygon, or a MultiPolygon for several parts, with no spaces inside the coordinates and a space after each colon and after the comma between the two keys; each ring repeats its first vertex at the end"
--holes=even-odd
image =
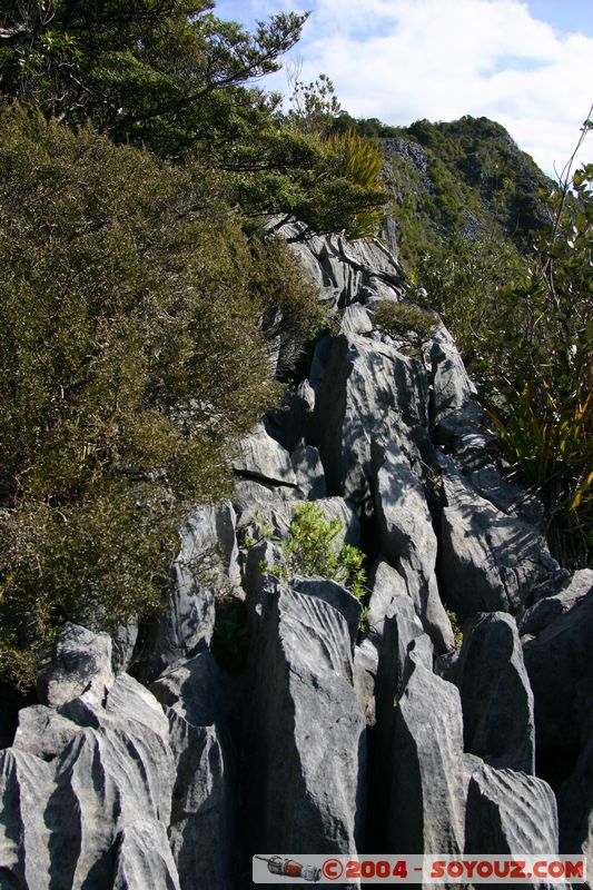
{"type": "Polygon", "coordinates": [[[168,715],[177,763],[169,843],[180,890],[194,890],[197,881],[227,890],[233,887],[236,793],[228,753],[216,726],[192,725],[170,710],[168,715]]]}

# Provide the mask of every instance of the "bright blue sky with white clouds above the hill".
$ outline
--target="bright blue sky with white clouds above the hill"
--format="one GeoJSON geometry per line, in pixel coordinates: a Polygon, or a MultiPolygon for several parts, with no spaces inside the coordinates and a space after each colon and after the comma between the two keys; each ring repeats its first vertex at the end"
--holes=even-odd
{"type": "MultiPolygon", "coordinates": [[[[307,82],[327,73],[355,117],[484,115],[546,172],[572,154],[593,102],[593,0],[219,0],[215,13],[250,27],[305,9],[288,65],[307,82]]],[[[286,73],[263,86],[285,92],[286,73]]]]}

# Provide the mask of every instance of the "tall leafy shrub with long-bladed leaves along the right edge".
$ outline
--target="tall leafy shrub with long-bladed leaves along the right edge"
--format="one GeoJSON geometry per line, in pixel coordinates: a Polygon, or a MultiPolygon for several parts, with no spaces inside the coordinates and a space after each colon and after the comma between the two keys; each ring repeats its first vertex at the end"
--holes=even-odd
{"type": "Polygon", "coordinates": [[[555,221],[506,295],[521,339],[502,340],[504,407],[492,416],[507,459],[544,497],[554,554],[577,567],[593,555],[593,165],[572,184],[572,197],[567,184],[552,196],[555,221]]]}

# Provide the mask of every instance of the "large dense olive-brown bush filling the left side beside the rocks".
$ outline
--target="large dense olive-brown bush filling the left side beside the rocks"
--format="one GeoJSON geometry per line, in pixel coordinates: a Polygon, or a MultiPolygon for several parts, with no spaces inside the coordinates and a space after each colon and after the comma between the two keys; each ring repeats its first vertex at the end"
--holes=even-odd
{"type": "Polygon", "coordinates": [[[276,398],[264,317],[316,317],[266,249],[211,171],[0,111],[2,676],[29,682],[66,617],[162,603],[180,504],[224,494],[276,398]]]}

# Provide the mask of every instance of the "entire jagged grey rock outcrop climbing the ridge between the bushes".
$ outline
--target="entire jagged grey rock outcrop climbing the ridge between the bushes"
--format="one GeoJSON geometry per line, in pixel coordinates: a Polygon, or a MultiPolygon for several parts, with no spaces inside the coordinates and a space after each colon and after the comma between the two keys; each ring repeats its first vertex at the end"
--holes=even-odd
{"type": "Polygon", "coordinates": [[[387,249],[275,225],[336,330],[230,456],[233,501],[189,516],[168,611],[112,642],[63,629],[0,753],[2,888],[243,890],[255,853],[593,854],[591,573],[559,568],[501,476],[448,333],[374,328],[407,299],[387,249]],[[363,547],[367,612],[274,574],[305,500],[363,547]]]}

